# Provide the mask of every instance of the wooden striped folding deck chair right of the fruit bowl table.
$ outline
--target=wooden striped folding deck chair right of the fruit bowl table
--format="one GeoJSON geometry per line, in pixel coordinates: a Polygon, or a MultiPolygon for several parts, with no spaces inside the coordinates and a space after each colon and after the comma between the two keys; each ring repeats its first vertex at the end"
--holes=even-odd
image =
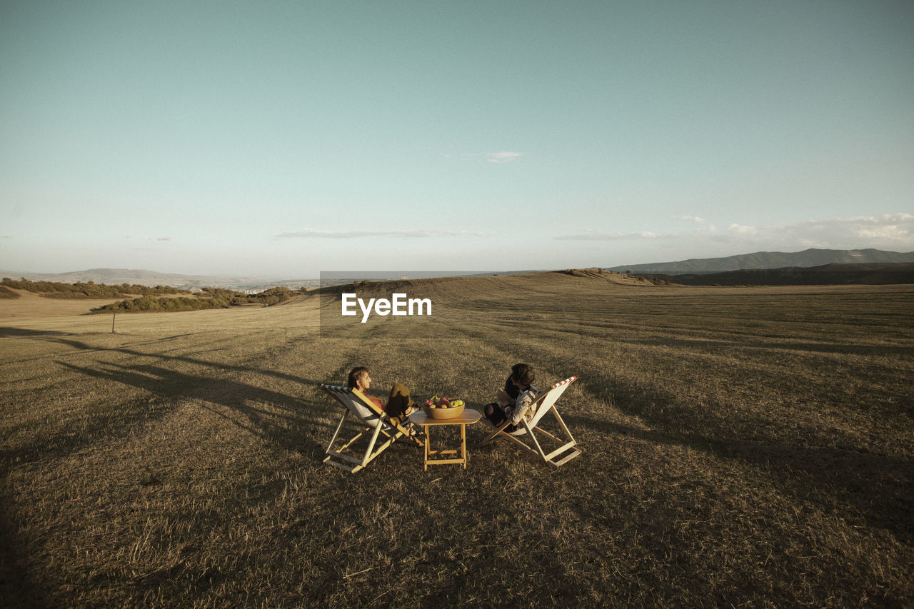
{"type": "Polygon", "coordinates": [[[514,432],[508,432],[505,429],[508,425],[511,424],[510,419],[502,422],[500,425],[498,425],[498,427],[495,427],[491,422],[489,422],[488,419],[483,417],[482,421],[488,424],[489,427],[493,428],[494,431],[487,435],[485,439],[479,443],[479,446],[493,443],[498,438],[506,438],[512,442],[520,444],[526,449],[526,451],[537,455],[549,465],[559,467],[568,463],[571,459],[580,454],[580,450],[575,448],[577,442],[575,442],[575,439],[571,437],[568,426],[564,421],[562,421],[561,416],[558,414],[558,410],[556,410],[556,401],[558,400],[559,396],[561,396],[561,394],[569,388],[569,385],[577,379],[578,377],[571,377],[569,379],[562,380],[561,382],[558,382],[550,387],[545,393],[540,395],[537,398],[537,401],[535,401],[533,405],[530,406],[530,410],[533,411],[533,416],[529,421],[527,421],[526,418],[522,418],[518,424],[517,429],[514,432]],[[568,442],[566,442],[564,439],[552,435],[551,433],[548,433],[546,430],[539,427],[539,422],[542,420],[543,416],[550,411],[555,415],[559,427],[561,427],[565,435],[568,436],[568,442]],[[561,445],[552,452],[546,453],[543,450],[540,441],[537,440],[537,436],[534,431],[541,433],[542,435],[546,435],[554,442],[558,442],[561,445]],[[529,436],[530,443],[525,443],[520,440],[520,438],[525,435],[529,436]],[[562,454],[564,454],[564,456],[561,456],[562,454]],[[559,458],[560,456],[561,458],[559,458]]]}

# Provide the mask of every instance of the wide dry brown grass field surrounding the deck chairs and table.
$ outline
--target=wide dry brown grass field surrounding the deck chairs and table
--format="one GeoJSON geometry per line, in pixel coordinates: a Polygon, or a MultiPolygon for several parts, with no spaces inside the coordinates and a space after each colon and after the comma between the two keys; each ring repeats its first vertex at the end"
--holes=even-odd
{"type": "Polygon", "coordinates": [[[422,289],[434,315],[358,337],[316,295],[115,333],[0,300],[0,604],[914,605],[914,286],[422,289]],[[482,424],[465,470],[322,463],[318,383],[365,365],[478,408],[517,361],[580,377],[560,469],[482,424]]]}

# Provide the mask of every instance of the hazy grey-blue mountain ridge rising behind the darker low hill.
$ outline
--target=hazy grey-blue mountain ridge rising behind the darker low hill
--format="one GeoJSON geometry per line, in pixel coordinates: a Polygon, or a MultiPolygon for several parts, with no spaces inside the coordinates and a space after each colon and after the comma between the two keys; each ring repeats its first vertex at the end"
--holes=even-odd
{"type": "Polygon", "coordinates": [[[745,269],[782,269],[813,267],[824,264],[869,264],[877,262],[914,262],[914,251],[907,253],[882,250],[803,250],[795,252],[756,251],[726,258],[693,258],[679,262],[650,262],[613,266],[608,271],[637,274],[678,275],[745,269]]]}

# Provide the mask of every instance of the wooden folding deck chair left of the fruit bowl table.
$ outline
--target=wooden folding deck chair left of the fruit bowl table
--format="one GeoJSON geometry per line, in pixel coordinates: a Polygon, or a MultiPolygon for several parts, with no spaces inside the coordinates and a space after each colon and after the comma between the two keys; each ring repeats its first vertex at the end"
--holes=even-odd
{"type": "Polygon", "coordinates": [[[343,416],[340,418],[339,424],[336,425],[334,437],[327,444],[327,456],[324,457],[324,463],[335,465],[340,469],[345,469],[345,471],[355,474],[399,438],[408,438],[409,441],[420,446],[425,445],[416,437],[418,430],[412,429],[412,423],[404,425],[402,422],[392,421],[387,412],[378,408],[375,402],[368,400],[361,391],[338,385],[325,385],[324,383],[321,383],[321,389],[345,406],[343,416]],[[333,446],[336,442],[336,437],[340,434],[340,430],[343,429],[345,418],[350,412],[356,416],[359,422],[365,424],[365,428],[343,444],[338,451],[335,451],[333,446]],[[368,441],[368,447],[361,458],[343,454],[346,448],[366,433],[371,433],[371,439],[368,441]],[[376,446],[378,436],[382,433],[386,441],[376,446]]]}

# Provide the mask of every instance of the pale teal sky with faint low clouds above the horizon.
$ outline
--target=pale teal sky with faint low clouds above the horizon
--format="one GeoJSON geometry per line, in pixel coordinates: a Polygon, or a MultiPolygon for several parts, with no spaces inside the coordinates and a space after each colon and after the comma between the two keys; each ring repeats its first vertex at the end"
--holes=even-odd
{"type": "Polygon", "coordinates": [[[914,251],[914,4],[0,0],[0,269],[914,251]]]}

